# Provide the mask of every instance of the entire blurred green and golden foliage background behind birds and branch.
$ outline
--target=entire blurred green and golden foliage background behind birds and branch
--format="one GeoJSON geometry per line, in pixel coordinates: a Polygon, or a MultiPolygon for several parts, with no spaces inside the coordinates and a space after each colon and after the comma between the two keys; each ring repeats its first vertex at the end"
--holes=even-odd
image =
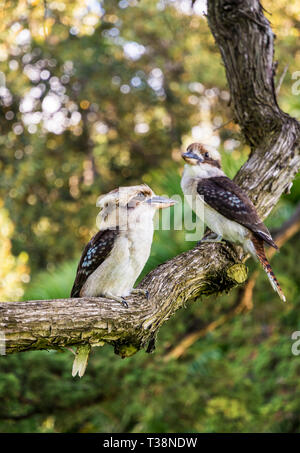
{"type": "MultiPolygon", "coordinates": [[[[299,2],[262,3],[277,36],[278,104],[299,119],[299,2]]],[[[119,186],[148,184],[178,201],[155,218],[138,282],[196,246],[204,226],[187,240],[182,151],[196,141],[218,148],[230,178],[252,151],[206,14],[206,0],[5,2],[1,301],[69,297],[98,231],[97,199],[119,186]]],[[[266,220],[272,232],[296,211],[299,175],[288,192],[266,220]]],[[[238,315],[230,310],[241,288],[201,297],[163,326],[154,354],[119,360],[110,346],[93,348],[80,382],[71,380],[70,351],[0,357],[0,431],[298,432],[300,358],[290,348],[300,323],[297,231],[272,261],[289,304],[249,260],[250,298],[238,315]],[[198,341],[167,361],[194,333],[198,341]]]]}

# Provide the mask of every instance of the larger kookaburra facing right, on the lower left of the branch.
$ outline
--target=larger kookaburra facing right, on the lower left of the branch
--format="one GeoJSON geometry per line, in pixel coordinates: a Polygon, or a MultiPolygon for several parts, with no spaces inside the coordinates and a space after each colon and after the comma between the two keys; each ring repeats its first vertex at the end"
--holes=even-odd
{"type": "MultiPolygon", "coordinates": [[[[157,209],[175,200],[155,195],[146,184],[119,187],[98,198],[99,231],[81,255],[71,298],[103,296],[128,308],[126,297],[148,291],[133,289],[149,258],[153,240],[153,217],[157,209]]],[[[82,377],[89,345],[77,348],[72,375],[82,377]]]]}

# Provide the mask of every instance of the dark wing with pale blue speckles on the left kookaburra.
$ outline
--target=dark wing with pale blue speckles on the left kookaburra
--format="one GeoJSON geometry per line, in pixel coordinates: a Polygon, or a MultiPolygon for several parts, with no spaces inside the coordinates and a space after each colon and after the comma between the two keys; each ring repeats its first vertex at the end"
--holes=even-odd
{"type": "Polygon", "coordinates": [[[119,229],[100,230],[85,246],[81,255],[71,297],[80,297],[80,291],[87,278],[110,254],[119,229]]]}

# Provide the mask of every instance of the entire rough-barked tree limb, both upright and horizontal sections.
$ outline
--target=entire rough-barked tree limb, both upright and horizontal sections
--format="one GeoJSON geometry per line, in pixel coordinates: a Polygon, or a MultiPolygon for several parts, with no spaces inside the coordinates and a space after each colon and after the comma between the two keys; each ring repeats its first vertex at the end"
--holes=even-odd
{"type": "MultiPolygon", "coordinates": [[[[208,23],[224,61],[235,121],[251,146],[236,182],[265,218],[300,166],[299,123],[282,112],[274,90],[273,41],[258,0],[210,0],[208,23]]],[[[202,244],[152,271],[126,309],[104,298],[0,304],[6,352],[73,344],[113,344],[126,357],[148,344],[160,326],[190,299],[228,291],[246,279],[229,244],[202,244]]]]}

